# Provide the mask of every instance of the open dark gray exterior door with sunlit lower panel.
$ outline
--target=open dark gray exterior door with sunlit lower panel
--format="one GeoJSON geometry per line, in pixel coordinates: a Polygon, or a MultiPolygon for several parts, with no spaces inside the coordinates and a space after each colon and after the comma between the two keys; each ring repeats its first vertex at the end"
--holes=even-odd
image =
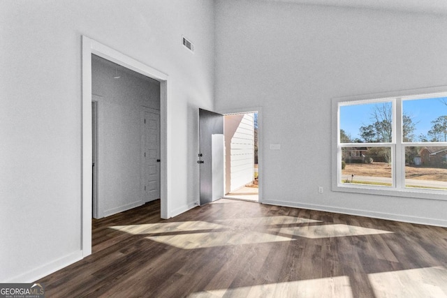
{"type": "Polygon", "coordinates": [[[198,109],[200,205],[223,197],[223,115],[198,109]]]}

